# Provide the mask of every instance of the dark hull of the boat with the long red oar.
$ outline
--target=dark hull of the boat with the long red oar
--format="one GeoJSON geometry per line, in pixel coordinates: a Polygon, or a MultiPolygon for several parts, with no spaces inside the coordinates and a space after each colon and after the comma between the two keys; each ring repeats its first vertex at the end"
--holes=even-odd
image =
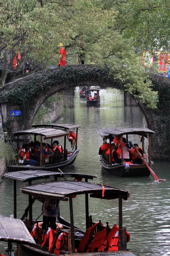
{"type": "Polygon", "coordinates": [[[150,170],[146,165],[130,165],[129,169],[125,168],[125,165],[120,163],[117,165],[108,165],[104,162],[103,158],[100,159],[101,166],[110,171],[112,174],[120,177],[144,177],[150,176],[150,170]]]}

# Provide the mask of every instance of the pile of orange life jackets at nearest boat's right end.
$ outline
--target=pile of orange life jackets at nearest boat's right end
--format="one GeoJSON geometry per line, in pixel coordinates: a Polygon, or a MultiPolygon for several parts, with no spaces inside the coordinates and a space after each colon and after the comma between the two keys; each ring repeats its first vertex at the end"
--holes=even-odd
{"type": "MultiPolygon", "coordinates": [[[[99,231],[93,236],[96,226],[99,223],[95,223],[94,226],[88,228],[84,237],[80,241],[78,251],[83,253],[89,253],[94,251],[118,251],[119,250],[119,227],[115,224],[111,231],[107,235],[107,227],[99,231]],[[92,240],[93,239],[93,240],[92,240]]],[[[103,225],[103,224],[102,224],[103,225]]],[[[130,234],[126,231],[127,242],[130,241],[130,234]]]]}

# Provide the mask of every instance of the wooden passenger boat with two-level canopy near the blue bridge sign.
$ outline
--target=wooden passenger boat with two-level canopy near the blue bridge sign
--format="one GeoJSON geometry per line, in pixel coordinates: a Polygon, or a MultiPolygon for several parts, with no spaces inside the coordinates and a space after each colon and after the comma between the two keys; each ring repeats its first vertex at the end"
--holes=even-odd
{"type": "Polygon", "coordinates": [[[17,149],[19,150],[19,136],[32,134],[34,135],[34,142],[36,142],[37,135],[41,138],[40,143],[40,166],[25,166],[18,163],[18,165],[8,166],[8,170],[18,171],[18,170],[56,170],[58,167],[67,167],[74,164],[74,161],[79,153],[77,147],[77,138],[78,138],[78,128],[80,125],[72,124],[42,124],[42,125],[32,125],[32,129],[18,131],[14,133],[14,136],[17,136],[17,149]],[[66,149],[66,137],[69,135],[70,131],[76,129],[76,139],[74,141],[72,151],[67,151],[66,149]],[[42,154],[42,143],[44,140],[51,139],[51,146],[53,140],[56,138],[64,137],[64,149],[63,153],[60,155],[53,155],[49,157],[44,157],[42,154]],[[74,150],[75,148],[75,150],[74,150]]]}

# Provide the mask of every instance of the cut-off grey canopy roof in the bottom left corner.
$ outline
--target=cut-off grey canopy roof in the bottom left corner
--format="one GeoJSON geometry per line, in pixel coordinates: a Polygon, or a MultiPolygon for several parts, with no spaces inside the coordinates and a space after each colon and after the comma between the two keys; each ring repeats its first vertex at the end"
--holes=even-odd
{"type": "Polygon", "coordinates": [[[0,216],[0,241],[35,244],[23,221],[3,216],[0,216]]]}

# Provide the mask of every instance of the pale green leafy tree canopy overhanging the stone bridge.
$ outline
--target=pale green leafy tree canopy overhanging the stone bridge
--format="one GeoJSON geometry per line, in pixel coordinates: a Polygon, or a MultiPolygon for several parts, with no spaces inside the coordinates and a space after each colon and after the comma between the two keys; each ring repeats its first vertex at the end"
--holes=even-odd
{"type": "MultiPolygon", "coordinates": [[[[149,1],[150,5],[155,3],[149,1]]],[[[143,20],[148,15],[149,22],[149,13],[158,9],[142,11],[148,5],[136,0],[0,0],[0,85],[16,73],[21,74],[27,65],[57,66],[62,42],[67,64],[78,64],[77,54],[85,63],[104,64],[124,83],[128,93],[155,108],[157,92],[152,91],[141,57],[134,51],[134,46],[144,47],[146,42],[154,46],[153,37],[152,44],[147,39],[143,20]],[[17,66],[13,69],[15,56],[17,66]]],[[[160,41],[154,21],[151,28],[154,38],[160,41]]]]}

